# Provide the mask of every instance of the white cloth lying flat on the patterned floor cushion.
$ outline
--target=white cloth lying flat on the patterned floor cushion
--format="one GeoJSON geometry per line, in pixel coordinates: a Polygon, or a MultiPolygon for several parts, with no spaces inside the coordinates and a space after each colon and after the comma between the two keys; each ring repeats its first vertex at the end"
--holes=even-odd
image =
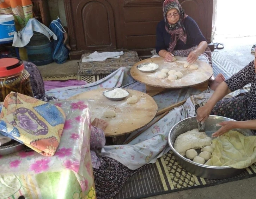
{"type": "Polygon", "coordinates": [[[123,55],[123,51],[121,52],[103,52],[98,53],[95,51],[94,53],[90,54],[87,57],[84,57],[82,59],[82,62],[88,62],[88,61],[105,61],[108,58],[120,58],[120,56],[123,55]]]}

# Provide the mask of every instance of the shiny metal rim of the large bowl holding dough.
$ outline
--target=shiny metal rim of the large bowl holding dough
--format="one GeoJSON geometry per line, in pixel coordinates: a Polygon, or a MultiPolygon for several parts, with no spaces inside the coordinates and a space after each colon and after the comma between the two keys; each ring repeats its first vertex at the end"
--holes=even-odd
{"type": "MultiPolygon", "coordinates": [[[[213,115],[213,116],[216,116],[216,115],[213,115]]],[[[193,117],[191,117],[191,118],[194,118],[194,117],[196,117],[196,116],[193,116],[193,117]]],[[[221,116],[221,117],[222,117],[222,116],[221,116]]],[[[226,117],[222,117],[222,118],[226,118],[226,117]]],[[[185,118],[185,119],[183,119],[183,120],[181,120],[181,121],[179,121],[179,122],[182,122],[182,121],[184,121],[184,120],[186,120],[186,119],[188,119],[188,118],[185,118]]],[[[226,119],[228,119],[229,121],[235,121],[235,120],[230,119],[230,118],[226,118],[226,119]]],[[[178,122],[178,123],[179,123],[179,122],[178,122]]],[[[178,124],[178,123],[177,123],[177,124],[178,124]]],[[[179,154],[179,153],[173,148],[172,143],[171,143],[171,140],[170,140],[170,134],[171,134],[171,132],[172,132],[172,129],[175,128],[175,126],[176,126],[177,124],[175,124],[175,125],[171,128],[171,130],[169,131],[169,133],[168,133],[168,144],[169,144],[171,150],[175,153],[175,155],[177,155],[179,158],[182,158],[183,160],[185,160],[185,161],[187,161],[187,162],[189,162],[189,163],[191,163],[191,164],[194,164],[194,165],[197,165],[197,166],[200,166],[200,167],[215,168],[215,169],[233,168],[233,167],[230,167],[230,166],[208,166],[208,165],[199,164],[199,163],[193,162],[192,160],[190,160],[190,159],[188,159],[188,158],[185,158],[183,155],[179,154]]]]}

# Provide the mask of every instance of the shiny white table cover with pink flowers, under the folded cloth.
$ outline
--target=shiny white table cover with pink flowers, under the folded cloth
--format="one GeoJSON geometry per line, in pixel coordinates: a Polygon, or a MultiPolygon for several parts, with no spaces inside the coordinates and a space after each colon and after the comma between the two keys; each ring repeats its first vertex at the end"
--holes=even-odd
{"type": "MultiPolygon", "coordinates": [[[[74,172],[83,190],[92,186],[92,165],[90,155],[90,112],[87,100],[49,102],[62,108],[66,122],[60,145],[52,157],[45,157],[35,151],[21,151],[0,157],[0,175],[29,175],[43,172],[74,172]],[[89,166],[88,166],[89,165],[89,166]],[[88,170],[88,168],[90,168],[88,170]]],[[[26,115],[18,120],[23,128],[35,127],[26,115]]],[[[49,150],[51,150],[49,148],[49,150]]]]}

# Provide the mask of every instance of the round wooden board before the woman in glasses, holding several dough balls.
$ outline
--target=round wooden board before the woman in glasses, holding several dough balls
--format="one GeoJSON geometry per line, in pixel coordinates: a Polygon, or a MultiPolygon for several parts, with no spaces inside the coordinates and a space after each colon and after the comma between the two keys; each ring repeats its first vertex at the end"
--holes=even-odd
{"type": "Polygon", "coordinates": [[[187,60],[187,57],[176,57],[175,62],[165,62],[162,57],[149,58],[136,63],[130,70],[132,77],[148,86],[161,87],[161,88],[184,88],[194,87],[208,81],[213,75],[213,69],[210,65],[203,61],[197,60],[195,64],[199,65],[197,70],[184,68],[183,65],[187,60]],[[137,65],[143,63],[155,63],[159,65],[159,68],[154,73],[143,73],[137,69],[137,65]],[[175,69],[176,71],[183,73],[183,78],[175,81],[170,81],[166,77],[165,79],[157,78],[156,73],[161,69],[168,68],[169,70],[175,69]]]}

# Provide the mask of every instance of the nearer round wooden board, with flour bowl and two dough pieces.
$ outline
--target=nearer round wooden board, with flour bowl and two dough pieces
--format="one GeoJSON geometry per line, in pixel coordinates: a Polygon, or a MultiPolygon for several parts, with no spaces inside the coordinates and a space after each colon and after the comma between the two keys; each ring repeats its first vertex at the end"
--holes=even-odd
{"type": "Polygon", "coordinates": [[[151,122],[157,114],[157,104],[152,97],[140,91],[130,90],[129,96],[122,101],[111,101],[102,94],[106,89],[97,89],[84,92],[71,97],[70,99],[88,99],[92,111],[92,119],[99,118],[106,120],[109,125],[104,130],[106,137],[117,137],[132,133],[151,122]],[[126,100],[132,96],[138,97],[136,104],[127,104],[126,100]],[[104,111],[115,110],[115,118],[105,118],[104,111]]]}

